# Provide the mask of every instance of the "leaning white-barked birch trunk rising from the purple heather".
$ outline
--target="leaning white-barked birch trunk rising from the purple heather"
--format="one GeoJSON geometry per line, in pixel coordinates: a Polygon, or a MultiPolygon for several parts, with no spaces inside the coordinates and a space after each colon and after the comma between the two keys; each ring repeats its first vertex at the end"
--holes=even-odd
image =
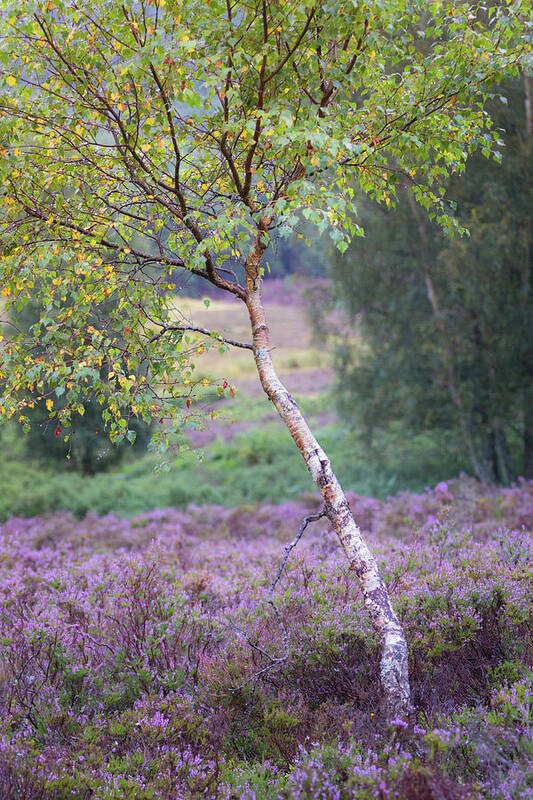
{"type": "Polygon", "coordinates": [[[363,591],[365,606],[383,646],[380,674],[389,721],[405,717],[409,708],[407,643],[392,608],[377,562],[368,549],[326,453],[311,433],[298,404],[279,380],[270,355],[270,334],[257,270],[249,265],[246,305],[250,315],[253,351],[261,385],[289,429],[324,499],[324,508],[340,539],[350,568],[363,591]],[[253,274],[255,273],[255,274],[253,274]]]}

